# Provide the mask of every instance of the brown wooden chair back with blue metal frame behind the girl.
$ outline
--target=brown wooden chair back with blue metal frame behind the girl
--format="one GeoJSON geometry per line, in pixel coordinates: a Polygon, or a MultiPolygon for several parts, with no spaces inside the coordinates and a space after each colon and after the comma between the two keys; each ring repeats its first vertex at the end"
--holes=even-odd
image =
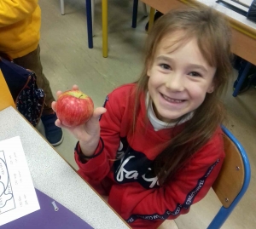
{"type": "Polygon", "coordinates": [[[251,169],[247,153],[228,129],[224,131],[224,151],[226,157],[223,167],[212,185],[212,189],[223,204],[208,229],[218,229],[229,217],[241,200],[250,182],[251,169]]]}

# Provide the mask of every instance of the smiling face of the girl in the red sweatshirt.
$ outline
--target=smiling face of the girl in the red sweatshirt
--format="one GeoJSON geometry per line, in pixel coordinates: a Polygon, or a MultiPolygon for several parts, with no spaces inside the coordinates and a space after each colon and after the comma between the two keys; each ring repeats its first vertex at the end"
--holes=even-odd
{"type": "Polygon", "coordinates": [[[216,67],[209,66],[195,38],[172,45],[180,35],[175,32],[160,41],[148,68],[154,112],[166,123],[195,111],[214,89],[216,67]]]}

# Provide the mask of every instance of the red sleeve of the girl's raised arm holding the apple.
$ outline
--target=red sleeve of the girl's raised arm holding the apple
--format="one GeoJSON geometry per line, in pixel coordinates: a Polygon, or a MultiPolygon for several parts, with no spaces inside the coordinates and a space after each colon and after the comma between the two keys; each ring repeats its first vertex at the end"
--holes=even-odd
{"type": "MultiPolygon", "coordinates": [[[[111,94],[108,96],[111,97],[111,94]]],[[[108,175],[119,148],[121,108],[116,106],[114,98],[109,100],[108,96],[104,105],[107,112],[102,115],[100,120],[102,140],[96,148],[95,157],[83,160],[79,157],[79,146],[75,149],[75,160],[79,166],[79,174],[88,181],[99,182],[108,175]]]]}

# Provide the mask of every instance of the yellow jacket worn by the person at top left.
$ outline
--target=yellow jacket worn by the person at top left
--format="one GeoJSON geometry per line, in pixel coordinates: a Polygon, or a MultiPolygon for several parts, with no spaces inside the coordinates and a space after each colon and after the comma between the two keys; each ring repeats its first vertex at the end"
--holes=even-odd
{"type": "Polygon", "coordinates": [[[37,49],[41,9],[38,0],[0,0],[0,52],[15,59],[37,49]]]}

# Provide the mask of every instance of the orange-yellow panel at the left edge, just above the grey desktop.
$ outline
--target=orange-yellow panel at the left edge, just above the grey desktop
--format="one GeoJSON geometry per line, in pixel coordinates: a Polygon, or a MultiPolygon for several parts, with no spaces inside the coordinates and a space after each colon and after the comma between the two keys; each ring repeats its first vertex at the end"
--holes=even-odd
{"type": "Polygon", "coordinates": [[[15,107],[15,102],[13,100],[12,95],[9,92],[9,87],[5,82],[3,73],[1,72],[1,69],[0,69],[0,111],[2,111],[8,106],[15,107]]]}

